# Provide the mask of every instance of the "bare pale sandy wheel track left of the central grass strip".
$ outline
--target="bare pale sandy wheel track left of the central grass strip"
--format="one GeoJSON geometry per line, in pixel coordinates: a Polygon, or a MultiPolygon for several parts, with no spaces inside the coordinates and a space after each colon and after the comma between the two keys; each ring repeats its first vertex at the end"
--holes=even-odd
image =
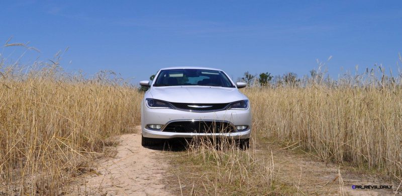
{"type": "Polygon", "coordinates": [[[142,147],[140,127],[136,129],[136,134],[120,136],[116,156],[100,160],[75,194],[171,195],[162,182],[167,167],[160,159],[162,152],[142,147]]]}

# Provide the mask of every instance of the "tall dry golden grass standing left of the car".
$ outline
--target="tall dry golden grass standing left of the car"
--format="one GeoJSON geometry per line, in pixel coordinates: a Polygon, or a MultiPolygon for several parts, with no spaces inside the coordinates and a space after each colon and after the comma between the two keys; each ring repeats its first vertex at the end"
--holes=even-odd
{"type": "Polygon", "coordinates": [[[0,194],[63,193],[108,138],[140,122],[135,87],[113,72],[86,78],[57,64],[0,65],[0,194]]]}

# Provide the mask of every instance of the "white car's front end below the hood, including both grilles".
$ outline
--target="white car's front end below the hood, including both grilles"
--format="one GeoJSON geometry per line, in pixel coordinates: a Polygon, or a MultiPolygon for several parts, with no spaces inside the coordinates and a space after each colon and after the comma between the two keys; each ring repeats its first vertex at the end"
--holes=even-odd
{"type": "MultiPolygon", "coordinates": [[[[149,102],[163,102],[144,99],[142,103],[142,135],[146,138],[192,138],[226,136],[230,139],[250,138],[251,109],[248,100],[245,109],[228,109],[235,103],[195,104],[169,103],[169,108],[150,107],[149,102]],[[194,110],[188,106],[212,106],[214,110],[194,110]]],[[[211,107],[211,108],[212,108],[211,107]]],[[[200,108],[198,108],[200,109],[200,108]]]]}

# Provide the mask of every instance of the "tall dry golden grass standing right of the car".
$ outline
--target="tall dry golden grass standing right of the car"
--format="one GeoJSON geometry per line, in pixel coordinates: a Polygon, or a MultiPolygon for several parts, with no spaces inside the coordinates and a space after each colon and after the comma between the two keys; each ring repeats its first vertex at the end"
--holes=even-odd
{"type": "Polygon", "coordinates": [[[326,162],[350,162],[401,176],[401,77],[380,70],[337,81],[245,89],[253,131],[291,142],[326,162]]]}

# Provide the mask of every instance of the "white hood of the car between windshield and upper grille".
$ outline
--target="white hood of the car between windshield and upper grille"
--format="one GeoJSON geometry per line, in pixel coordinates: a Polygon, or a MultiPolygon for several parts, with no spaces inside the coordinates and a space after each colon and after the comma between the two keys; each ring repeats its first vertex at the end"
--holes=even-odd
{"type": "Polygon", "coordinates": [[[174,103],[218,104],[247,100],[237,88],[216,86],[160,86],[150,90],[153,99],[174,103]]]}

